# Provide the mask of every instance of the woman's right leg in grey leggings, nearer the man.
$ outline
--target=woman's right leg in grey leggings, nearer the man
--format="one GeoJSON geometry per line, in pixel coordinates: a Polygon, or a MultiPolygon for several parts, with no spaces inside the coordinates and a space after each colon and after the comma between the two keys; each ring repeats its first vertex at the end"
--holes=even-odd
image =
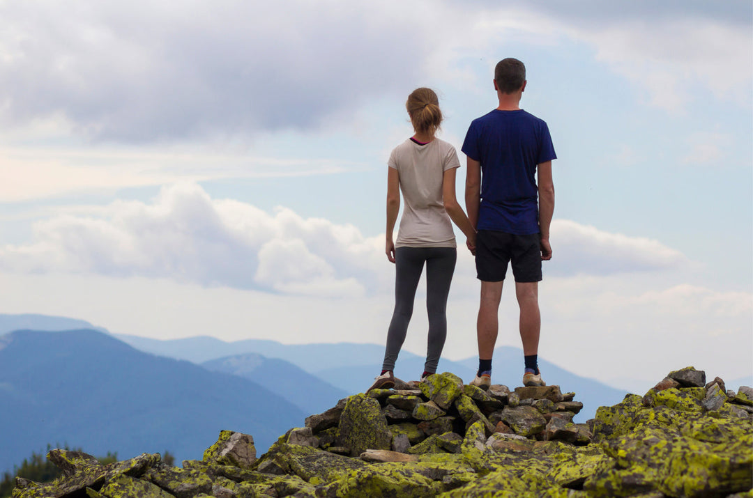
{"type": "Polygon", "coordinates": [[[425,372],[437,372],[444,340],[447,338],[447,295],[450,293],[457,257],[455,247],[431,247],[431,255],[426,260],[428,345],[425,372]]]}

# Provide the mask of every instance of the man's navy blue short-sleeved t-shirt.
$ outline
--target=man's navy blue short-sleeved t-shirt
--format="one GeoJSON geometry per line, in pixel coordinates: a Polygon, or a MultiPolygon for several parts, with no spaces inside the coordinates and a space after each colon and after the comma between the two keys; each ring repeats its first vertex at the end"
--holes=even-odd
{"type": "Polygon", "coordinates": [[[499,111],[471,123],[462,147],[481,163],[477,229],[538,233],[536,166],[556,159],[547,123],[523,109],[499,111]]]}

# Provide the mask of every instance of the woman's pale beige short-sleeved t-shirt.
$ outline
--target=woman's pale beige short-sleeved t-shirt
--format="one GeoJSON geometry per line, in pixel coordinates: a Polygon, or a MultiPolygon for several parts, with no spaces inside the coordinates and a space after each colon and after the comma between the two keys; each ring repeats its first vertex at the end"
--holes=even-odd
{"type": "Polygon", "coordinates": [[[456,247],[442,200],[444,172],[460,167],[455,147],[439,138],[424,145],[409,138],[392,150],[387,165],[398,170],[405,201],[395,247],[456,247]]]}

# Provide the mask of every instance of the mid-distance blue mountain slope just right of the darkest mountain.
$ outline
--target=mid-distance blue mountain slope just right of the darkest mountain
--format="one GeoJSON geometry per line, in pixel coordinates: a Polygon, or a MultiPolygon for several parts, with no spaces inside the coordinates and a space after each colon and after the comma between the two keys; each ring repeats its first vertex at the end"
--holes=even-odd
{"type": "Polygon", "coordinates": [[[271,387],[306,414],[322,413],[349,396],[345,390],[322,381],[293,363],[261,354],[247,353],[209,360],[202,366],[212,372],[238,375],[271,387]]]}

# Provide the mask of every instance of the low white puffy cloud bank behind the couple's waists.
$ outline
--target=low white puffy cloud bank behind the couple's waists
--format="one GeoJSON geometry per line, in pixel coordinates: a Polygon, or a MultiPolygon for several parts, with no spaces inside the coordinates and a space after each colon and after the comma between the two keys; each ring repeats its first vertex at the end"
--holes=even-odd
{"type": "MultiPolygon", "coordinates": [[[[79,207],[38,221],[34,232],[28,244],[0,248],[0,269],[328,296],[389,293],[394,278],[383,235],[364,236],[355,226],[303,218],[288,208],[269,214],[245,202],[212,199],[196,184],[164,187],[151,204],[115,201],[88,213],[79,207]]],[[[687,263],[658,241],[568,220],[553,223],[552,240],[551,275],[656,272],[687,263]]],[[[471,275],[470,258],[461,263],[471,275]]]]}

